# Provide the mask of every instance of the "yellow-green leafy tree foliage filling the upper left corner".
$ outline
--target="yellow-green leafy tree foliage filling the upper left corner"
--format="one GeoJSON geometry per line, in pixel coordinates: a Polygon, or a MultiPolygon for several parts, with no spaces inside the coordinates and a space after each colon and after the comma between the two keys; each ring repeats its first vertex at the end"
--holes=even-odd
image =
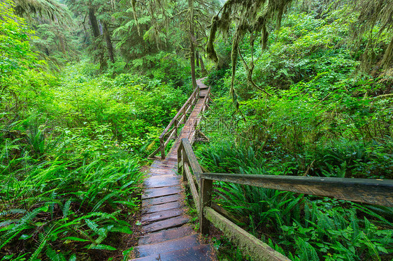
{"type": "Polygon", "coordinates": [[[1,121],[14,121],[44,103],[40,94],[55,85],[55,78],[43,70],[45,62],[37,59],[29,43],[34,31],[14,15],[11,2],[2,1],[0,10],[1,121]]]}

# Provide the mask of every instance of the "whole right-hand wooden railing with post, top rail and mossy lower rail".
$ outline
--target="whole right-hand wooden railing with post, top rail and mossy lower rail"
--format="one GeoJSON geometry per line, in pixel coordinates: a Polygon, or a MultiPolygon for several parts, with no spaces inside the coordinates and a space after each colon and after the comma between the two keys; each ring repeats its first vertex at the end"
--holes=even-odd
{"type": "Polygon", "coordinates": [[[190,185],[192,197],[199,213],[201,233],[208,234],[210,223],[213,223],[234,244],[243,248],[243,251],[254,257],[255,260],[283,261],[289,259],[235,225],[227,218],[229,213],[217,204],[212,204],[213,181],[273,188],[279,191],[335,197],[340,200],[393,207],[392,179],[204,173],[187,139],[182,139],[178,148],[178,171],[183,174],[183,179],[187,179],[190,185]]]}

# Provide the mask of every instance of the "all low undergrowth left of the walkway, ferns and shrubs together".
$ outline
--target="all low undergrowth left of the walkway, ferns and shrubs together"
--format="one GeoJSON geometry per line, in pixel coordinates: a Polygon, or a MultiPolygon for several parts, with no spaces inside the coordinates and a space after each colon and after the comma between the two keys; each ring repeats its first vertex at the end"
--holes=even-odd
{"type": "Polygon", "coordinates": [[[146,144],[186,96],[160,79],[96,73],[80,63],[55,84],[32,79],[32,93],[48,88],[24,96],[17,119],[2,107],[1,256],[76,260],[101,251],[102,258],[122,247],[120,233],[133,233],[140,161],[155,149],[146,144]]]}

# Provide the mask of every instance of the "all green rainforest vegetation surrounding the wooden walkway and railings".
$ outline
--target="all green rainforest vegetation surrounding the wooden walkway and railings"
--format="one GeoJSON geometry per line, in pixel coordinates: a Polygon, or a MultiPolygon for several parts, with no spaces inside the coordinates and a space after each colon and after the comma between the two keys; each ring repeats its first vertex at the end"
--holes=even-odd
{"type": "MultiPolygon", "coordinates": [[[[204,170],[393,179],[392,0],[1,0],[0,260],[127,260],[198,77],[204,170]]],[[[393,260],[392,208],[215,188],[290,260],[393,260]]]]}

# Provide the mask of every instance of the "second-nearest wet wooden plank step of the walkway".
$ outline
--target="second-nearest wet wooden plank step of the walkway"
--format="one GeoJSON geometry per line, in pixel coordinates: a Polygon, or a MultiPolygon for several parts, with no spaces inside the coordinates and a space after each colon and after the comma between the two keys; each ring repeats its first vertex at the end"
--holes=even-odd
{"type": "Polygon", "coordinates": [[[176,251],[183,248],[190,248],[192,246],[198,246],[199,241],[196,234],[192,234],[186,237],[180,237],[178,239],[172,239],[156,244],[137,246],[135,249],[136,256],[138,258],[148,257],[150,255],[156,255],[157,253],[165,253],[169,251],[176,251]]]}

